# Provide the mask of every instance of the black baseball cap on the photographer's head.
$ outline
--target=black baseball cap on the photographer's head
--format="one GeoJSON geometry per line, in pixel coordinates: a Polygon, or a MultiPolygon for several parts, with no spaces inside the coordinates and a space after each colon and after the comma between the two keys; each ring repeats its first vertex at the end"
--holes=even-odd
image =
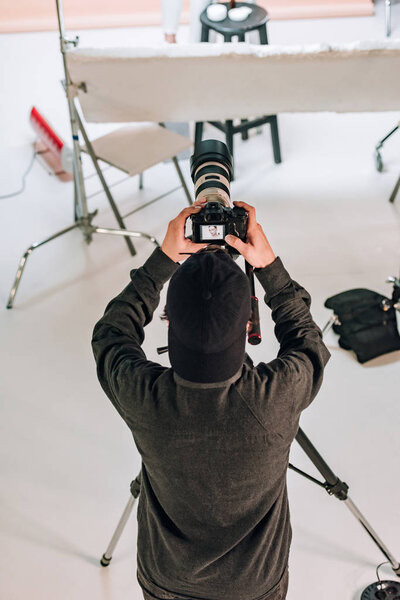
{"type": "Polygon", "coordinates": [[[232,377],[244,361],[250,311],[248,278],[229,254],[217,250],[190,256],[175,271],[167,293],[174,371],[198,383],[232,377]]]}

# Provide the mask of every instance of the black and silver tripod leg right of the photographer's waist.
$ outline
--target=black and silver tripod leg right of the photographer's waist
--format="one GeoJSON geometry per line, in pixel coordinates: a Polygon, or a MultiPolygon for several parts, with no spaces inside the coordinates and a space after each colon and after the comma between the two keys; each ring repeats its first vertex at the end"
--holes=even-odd
{"type": "MultiPolygon", "coordinates": [[[[343,481],[341,481],[339,479],[339,477],[337,477],[337,475],[334,474],[334,472],[330,469],[330,467],[324,461],[322,456],[319,454],[319,452],[316,450],[316,448],[312,445],[312,443],[307,438],[307,436],[302,431],[302,429],[299,429],[299,431],[297,432],[296,441],[298,442],[298,444],[300,445],[302,450],[304,450],[304,452],[307,454],[308,458],[311,460],[311,462],[314,464],[314,466],[318,469],[318,471],[321,473],[321,475],[325,479],[324,484],[321,484],[317,480],[314,480],[315,483],[322,485],[326,489],[326,491],[328,492],[329,495],[336,496],[336,498],[338,498],[339,500],[344,501],[346,506],[352,512],[352,514],[357,518],[357,520],[361,523],[361,525],[367,531],[368,535],[378,546],[379,550],[383,553],[383,555],[390,562],[393,571],[396,573],[396,575],[398,577],[400,577],[399,561],[395,559],[393,554],[389,551],[387,546],[382,542],[382,540],[377,535],[375,530],[368,523],[367,519],[361,514],[361,512],[356,507],[354,502],[349,498],[349,496],[347,494],[349,486],[346,483],[344,483],[343,481]]],[[[293,468],[292,465],[290,465],[290,468],[293,468]]],[[[294,469],[294,470],[297,471],[298,473],[300,473],[301,475],[306,476],[308,479],[313,480],[313,478],[311,478],[307,474],[303,473],[299,469],[294,469]]]]}

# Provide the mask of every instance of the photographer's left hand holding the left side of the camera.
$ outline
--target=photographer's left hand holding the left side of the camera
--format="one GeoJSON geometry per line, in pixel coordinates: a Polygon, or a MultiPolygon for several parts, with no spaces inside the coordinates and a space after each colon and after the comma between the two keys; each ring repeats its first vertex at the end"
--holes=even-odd
{"type": "Polygon", "coordinates": [[[161,250],[174,262],[187,258],[185,253],[194,254],[207,246],[207,244],[195,244],[185,237],[185,224],[188,217],[200,212],[205,205],[206,200],[196,200],[192,206],[184,208],[175,219],[169,222],[161,250]]]}

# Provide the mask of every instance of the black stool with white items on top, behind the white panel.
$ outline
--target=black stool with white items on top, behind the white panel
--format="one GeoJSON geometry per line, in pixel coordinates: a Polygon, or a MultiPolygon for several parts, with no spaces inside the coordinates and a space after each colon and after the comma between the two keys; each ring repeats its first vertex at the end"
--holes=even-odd
{"type": "MultiPolygon", "coordinates": [[[[229,2],[225,3],[225,6],[229,10],[229,2]]],[[[239,42],[245,41],[246,33],[250,31],[258,31],[260,36],[260,44],[268,44],[267,35],[267,22],[269,20],[268,13],[264,8],[257,4],[250,4],[249,2],[236,2],[236,6],[248,6],[252,12],[245,21],[231,21],[227,16],[223,21],[210,21],[207,17],[207,9],[205,9],[200,15],[201,21],[201,41],[208,42],[210,30],[216,31],[224,36],[225,42],[230,42],[233,37],[237,36],[239,42]]],[[[271,138],[272,138],[272,149],[274,153],[275,163],[282,162],[281,149],[279,144],[279,133],[278,133],[278,119],[276,115],[268,115],[259,117],[258,119],[241,119],[240,125],[234,125],[232,120],[221,123],[220,121],[208,121],[211,125],[219,129],[225,134],[226,145],[233,158],[233,136],[235,133],[241,133],[242,139],[248,139],[248,131],[253,127],[260,127],[265,123],[269,123],[271,127],[271,138]]],[[[204,122],[196,123],[194,145],[195,147],[201,142],[203,137],[204,122]]]]}

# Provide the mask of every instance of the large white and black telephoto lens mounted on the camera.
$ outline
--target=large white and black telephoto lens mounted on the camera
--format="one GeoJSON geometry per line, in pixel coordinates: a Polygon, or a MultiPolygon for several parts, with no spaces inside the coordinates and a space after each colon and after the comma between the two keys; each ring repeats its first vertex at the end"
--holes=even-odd
{"type": "Polygon", "coordinates": [[[232,156],[223,142],[200,142],[190,158],[190,174],[196,200],[205,198],[207,202],[230,206],[232,156]]]}

